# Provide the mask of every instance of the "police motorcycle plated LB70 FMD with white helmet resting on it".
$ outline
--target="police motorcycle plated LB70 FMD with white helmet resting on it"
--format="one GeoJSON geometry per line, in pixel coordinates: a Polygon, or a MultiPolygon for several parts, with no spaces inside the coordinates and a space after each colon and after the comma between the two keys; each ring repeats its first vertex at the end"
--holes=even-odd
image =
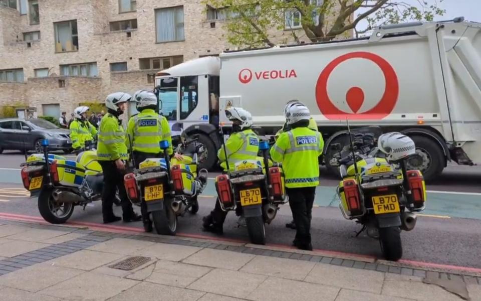
{"type": "Polygon", "coordinates": [[[414,142],[398,132],[381,133],[376,126],[348,127],[350,143],[343,149],[332,145],[339,153],[330,163],[340,167],[337,195],[343,217],[362,225],[356,237],[367,229],[369,237],[379,240],[384,258],[397,261],[402,257],[400,232],[414,229],[415,212],[425,208],[426,189],[421,172],[406,168],[414,142]]]}

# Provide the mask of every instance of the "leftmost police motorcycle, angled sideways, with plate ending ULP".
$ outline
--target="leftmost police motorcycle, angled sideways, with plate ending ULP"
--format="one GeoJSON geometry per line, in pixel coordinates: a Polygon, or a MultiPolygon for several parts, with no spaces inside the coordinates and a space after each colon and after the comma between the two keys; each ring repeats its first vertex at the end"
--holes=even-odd
{"type": "MultiPolygon", "coordinates": [[[[39,193],[40,215],[49,223],[63,224],[74,211],[102,199],[103,174],[97,151],[91,141],[85,142],[75,161],[49,154],[47,139],[42,140],[43,154],[32,154],[21,164],[25,189],[39,193]]],[[[118,195],[116,204],[120,204],[118,195]]]]}

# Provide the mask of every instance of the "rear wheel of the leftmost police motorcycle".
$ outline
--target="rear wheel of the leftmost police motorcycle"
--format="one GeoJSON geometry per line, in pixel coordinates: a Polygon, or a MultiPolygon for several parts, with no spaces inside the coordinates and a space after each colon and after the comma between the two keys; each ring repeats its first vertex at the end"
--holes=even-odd
{"type": "Polygon", "coordinates": [[[49,223],[63,224],[72,216],[74,204],[55,202],[53,192],[53,189],[42,189],[38,200],[39,212],[49,223]]]}

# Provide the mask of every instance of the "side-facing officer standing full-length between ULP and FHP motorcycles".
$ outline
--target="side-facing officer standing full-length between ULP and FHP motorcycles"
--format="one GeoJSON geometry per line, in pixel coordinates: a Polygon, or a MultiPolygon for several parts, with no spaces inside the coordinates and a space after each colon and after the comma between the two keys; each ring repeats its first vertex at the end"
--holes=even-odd
{"type": "Polygon", "coordinates": [[[125,131],[119,116],[127,109],[127,102],[132,98],[127,93],[116,92],[109,94],[105,99],[107,114],[99,125],[97,157],[104,174],[104,187],[102,191],[102,216],[104,223],[119,221],[121,218],[114,215],[112,203],[115,198],[116,188],[119,191],[122,219],[124,222],[139,221],[130,203],[124,187],[125,160],[128,159],[127,145],[125,144],[125,131]]]}

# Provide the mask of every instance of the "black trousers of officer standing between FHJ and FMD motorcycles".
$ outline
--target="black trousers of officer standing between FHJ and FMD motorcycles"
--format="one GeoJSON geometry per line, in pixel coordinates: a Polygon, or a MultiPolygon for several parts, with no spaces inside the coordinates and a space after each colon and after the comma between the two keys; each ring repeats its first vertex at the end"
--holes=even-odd
{"type": "Polygon", "coordinates": [[[316,187],[286,188],[289,196],[294,223],[296,224],[296,238],[301,244],[311,243],[312,205],[316,195],[316,187]]]}

